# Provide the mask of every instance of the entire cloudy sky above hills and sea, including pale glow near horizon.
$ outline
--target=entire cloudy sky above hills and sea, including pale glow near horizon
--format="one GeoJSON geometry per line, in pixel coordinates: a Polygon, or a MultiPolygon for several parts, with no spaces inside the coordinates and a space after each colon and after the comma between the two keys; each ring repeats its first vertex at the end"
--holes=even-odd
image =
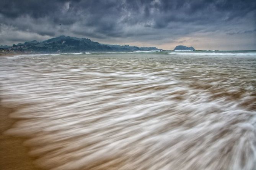
{"type": "Polygon", "coordinates": [[[256,50],[255,0],[0,2],[0,45],[66,35],[165,50],[176,45],[196,50],[256,50]]]}

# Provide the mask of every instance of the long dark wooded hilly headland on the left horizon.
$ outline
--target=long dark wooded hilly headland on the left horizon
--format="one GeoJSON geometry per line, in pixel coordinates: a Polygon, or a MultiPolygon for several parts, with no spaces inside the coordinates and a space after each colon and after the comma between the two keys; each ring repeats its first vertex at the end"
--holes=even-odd
{"type": "Polygon", "coordinates": [[[37,53],[62,53],[62,52],[86,52],[86,51],[149,51],[161,50],[156,47],[136,47],[129,45],[109,45],[93,42],[88,38],[76,38],[60,36],[38,42],[36,40],[18,43],[13,46],[2,45],[0,48],[14,51],[31,51],[37,53]]]}

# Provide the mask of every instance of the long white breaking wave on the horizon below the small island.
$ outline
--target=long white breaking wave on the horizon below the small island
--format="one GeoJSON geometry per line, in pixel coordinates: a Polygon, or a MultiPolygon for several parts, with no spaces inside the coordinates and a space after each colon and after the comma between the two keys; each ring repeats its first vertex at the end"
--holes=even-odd
{"type": "Polygon", "coordinates": [[[256,56],[256,53],[197,53],[197,52],[188,52],[188,53],[179,53],[171,52],[170,55],[194,55],[194,56],[256,56]]]}

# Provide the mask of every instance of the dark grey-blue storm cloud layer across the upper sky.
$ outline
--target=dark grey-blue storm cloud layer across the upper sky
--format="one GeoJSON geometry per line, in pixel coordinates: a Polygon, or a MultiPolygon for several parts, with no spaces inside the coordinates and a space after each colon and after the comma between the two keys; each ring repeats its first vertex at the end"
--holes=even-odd
{"type": "Polygon", "coordinates": [[[256,29],[254,0],[2,0],[1,5],[3,25],[49,37],[171,42],[196,32],[256,29]]]}

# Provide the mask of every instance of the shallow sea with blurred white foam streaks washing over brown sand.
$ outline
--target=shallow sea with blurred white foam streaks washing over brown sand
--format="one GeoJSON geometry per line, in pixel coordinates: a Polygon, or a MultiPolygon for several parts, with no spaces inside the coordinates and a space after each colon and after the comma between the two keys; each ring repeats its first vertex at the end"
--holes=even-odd
{"type": "Polygon", "coordinates": [[[0,60],[1,98],[51,170],[254,170],[256,57],[103,53],[0,60]]]}

